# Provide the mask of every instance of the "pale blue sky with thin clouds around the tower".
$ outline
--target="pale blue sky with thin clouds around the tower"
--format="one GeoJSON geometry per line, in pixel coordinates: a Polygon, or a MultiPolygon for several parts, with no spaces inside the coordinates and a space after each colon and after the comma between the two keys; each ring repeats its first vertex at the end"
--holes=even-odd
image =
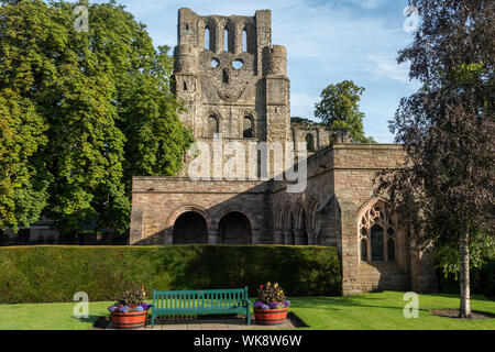
{"type": "MultiPolygon", "coordinates": [[[[101,1],[90,1],[101,2],[101,1]]],[[[287,48],[293,117],[315,119],[315,103],[330,84],[353,80],[365,88],[360,110],[364,132],[393,143],[388,130],[403,97],[419,86],[397,52],[413,42],[406,32],[407,0],[118,0],[146,24],[155,45],[177,44],[177,11],[199,15],[254,15],[272,10],[272,44],[287,48]]],[[[410,23],[410,22],[408,22],[410,23]]],[[[172,52],[170,52],[172,53],[172,52]]],[[[318,121],[318,120],[316,120],[318,121]]]]}

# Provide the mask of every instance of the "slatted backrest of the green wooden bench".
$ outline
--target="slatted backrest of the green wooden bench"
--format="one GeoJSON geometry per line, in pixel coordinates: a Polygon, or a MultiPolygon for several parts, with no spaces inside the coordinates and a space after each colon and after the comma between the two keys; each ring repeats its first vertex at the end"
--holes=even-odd
{"type": "Polygon", "coordinates": [[[153,290],[153,304],[156,309],[226,308],[243,306],[248,298],[248,287],[201,290],[153,290]]]}

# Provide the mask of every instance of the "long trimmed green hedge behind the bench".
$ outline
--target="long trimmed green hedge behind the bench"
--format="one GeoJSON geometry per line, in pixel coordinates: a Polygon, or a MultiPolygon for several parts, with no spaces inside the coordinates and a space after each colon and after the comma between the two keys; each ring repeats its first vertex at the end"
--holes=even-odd
{"type": "Polygon", "coordinates": [[[334,248],[285,245],[0,248],[0,304],[113,300],[124,289],[208,289],[277,282],[287,296],[340,295],[334,248]]]}

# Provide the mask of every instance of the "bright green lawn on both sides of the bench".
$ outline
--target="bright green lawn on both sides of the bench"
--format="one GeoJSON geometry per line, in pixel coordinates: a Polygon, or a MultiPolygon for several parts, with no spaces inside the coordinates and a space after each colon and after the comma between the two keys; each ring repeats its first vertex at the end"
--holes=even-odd
{"type": "MultiPolygon", "coordinates": [[[[419,318],[406,319],[403,315],[404,293],[385,292],[352,297],[292,298],[290,310],[308,329],[490,329],[495,330],[495,319],[459,320],[435,317],[430,308],[458,308],[454,295],[419,295],[419,318]]],[[[85,330],[98,317],[107,316],[111,302],[90,302],[89,318],[73,317],[73,302],[36,305],[0,305],[0,329],[85,330]]],[[[472,299],[473,310],[495,314],[495,301],[483,296],[472,299]]]]}

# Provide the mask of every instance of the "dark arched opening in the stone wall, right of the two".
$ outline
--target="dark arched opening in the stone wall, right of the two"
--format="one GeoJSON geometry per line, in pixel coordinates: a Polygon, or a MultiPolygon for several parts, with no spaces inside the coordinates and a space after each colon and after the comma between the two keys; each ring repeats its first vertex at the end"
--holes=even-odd
{"type": "Polygon", "coordinates": [[[228,212],[218,224],[219,242],[222,244],[251,244],[250,219],[239,211],[228,212]]]}

